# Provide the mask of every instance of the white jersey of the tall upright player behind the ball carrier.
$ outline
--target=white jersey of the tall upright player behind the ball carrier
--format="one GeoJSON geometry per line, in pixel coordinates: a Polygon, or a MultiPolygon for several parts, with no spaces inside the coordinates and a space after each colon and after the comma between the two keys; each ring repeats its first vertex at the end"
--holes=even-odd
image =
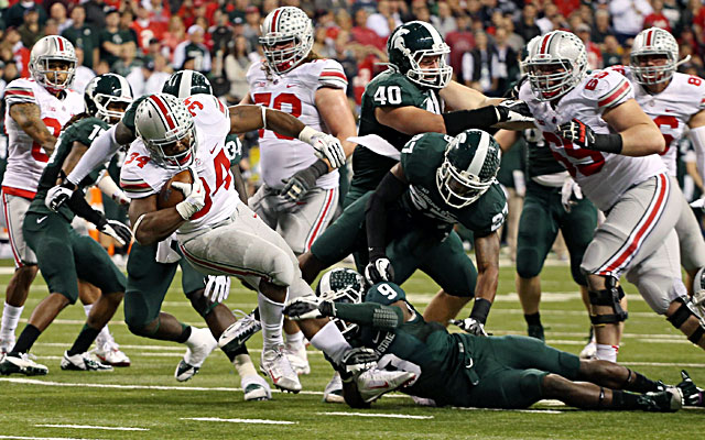
{"type": "MultiPolygon", "coordinates": [[[[321,87],[345,90],[348,84],[343,66],[334,59],[314,59],[284,75],[271,74],[269,77],[262,63],[254,63],[247,73],[247,81],[252,102],[290,113],[323,132],[328,132],[328,129],[316,108],[316,90],[321,87]]],[[[313,147],[305,142],[270,130],[260,130],[260,164],[267,186],[282,188],[282,179],[307,168],[317,160],[313,147]]],[[[338,172],[321,176],[316,186],[336,188],[338,172]]]]}

